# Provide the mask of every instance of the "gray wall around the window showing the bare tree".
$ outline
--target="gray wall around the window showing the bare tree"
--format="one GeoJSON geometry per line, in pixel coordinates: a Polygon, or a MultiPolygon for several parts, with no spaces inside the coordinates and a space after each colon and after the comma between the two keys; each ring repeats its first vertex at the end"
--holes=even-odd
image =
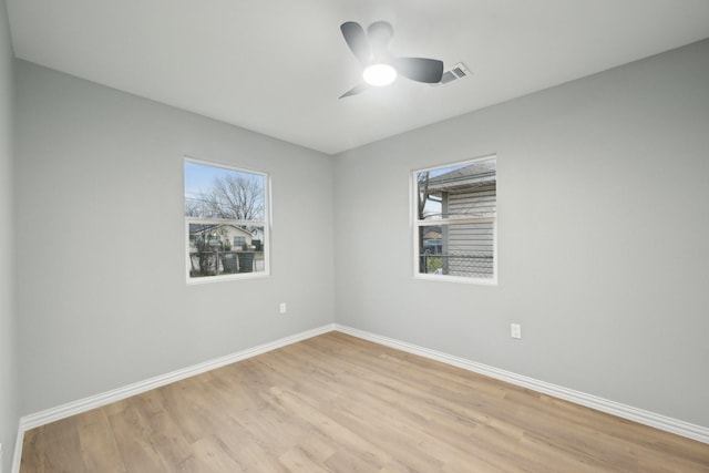
{"type": "Polygon", "coordinates": [[[333,321],[331,157],[16,69],[23,414],[333,321]],[[269,278],[185,284],[185,153],[270,173],[269,278]]]}

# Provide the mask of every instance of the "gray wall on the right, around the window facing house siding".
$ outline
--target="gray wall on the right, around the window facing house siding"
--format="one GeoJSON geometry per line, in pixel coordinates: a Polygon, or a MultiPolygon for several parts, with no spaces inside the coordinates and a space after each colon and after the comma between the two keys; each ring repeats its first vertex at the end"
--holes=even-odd
{"type": "Polygon", "coordinates": [[[708,176],[709,41],[342,153],[337,321],[709,426],[708,176]],[[413,279],[411,169],[491,153],[499,286],[413,279]]]}

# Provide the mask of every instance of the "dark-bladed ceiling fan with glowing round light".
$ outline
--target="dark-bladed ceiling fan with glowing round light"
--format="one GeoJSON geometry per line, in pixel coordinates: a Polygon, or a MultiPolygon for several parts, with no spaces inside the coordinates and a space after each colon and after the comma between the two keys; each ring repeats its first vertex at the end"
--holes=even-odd
{"type": "Polygon", "coordinates": [[[340,95],[340,99],[357,95],[369,86],[388,85],[397,79],[397,74],[412,81],[435,84],[443,76],[443,61],[425,58],[397,58],[387,49],[389,40],[394,33],[393,28],[386,21],[377,21],[364,29],[353,21],[340,25],[345,42],[362,63],[363,82],[354,85],[340,95]]]}

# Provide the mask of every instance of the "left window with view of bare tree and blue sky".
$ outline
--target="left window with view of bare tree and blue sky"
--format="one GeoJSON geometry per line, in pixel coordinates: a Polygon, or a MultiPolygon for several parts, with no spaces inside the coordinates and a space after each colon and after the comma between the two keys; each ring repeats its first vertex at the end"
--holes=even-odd
{"type": "Polygon", "coordinates": [[[266,174],[185,160],[187,281],[268,274],[266,174]]]}

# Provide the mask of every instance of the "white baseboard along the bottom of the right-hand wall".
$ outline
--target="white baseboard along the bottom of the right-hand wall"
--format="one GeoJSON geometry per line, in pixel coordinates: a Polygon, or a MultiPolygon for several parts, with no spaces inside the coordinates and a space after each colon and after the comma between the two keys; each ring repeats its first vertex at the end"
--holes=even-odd
{"type": "Polygon", "coordinates": [[[440,351],[430,350],[428,348],[419,347],[412,343],[407,343],[404,341],[395,340],[388,337],[382,337],[377,333],[371,333],[364,330],[341,326],[339,323],[335,325],[335,330],[341,331],[342,333],[351,335],[357,338],[361,338],[363,340],[373,341],[374,343],[395,348],[398,350],[407,351],[409,353],[419,354],[424,358],[441,361],[443,363],[452,364],[454,367],[463,368],[465,370],[473,371],[480,374],[485,374],[490,378],[495,378],[501,381],[506,381],[511,384],[516,384],[522,388],[527,388],[537,392],[542,392],[544,394],[553,395],[555,398],[559,398],[565,401],[585,405],[587,408],[595,409],[600,412],[606,412],[608,414],[627,419],[640,424],[649,425],[655,429],[664,430],[666,432],[671,432],[677,435],[697,440],[699,442],[709,443],[709,429],[701,425],[696,425],[689,422],[668,418],[666,415],[656,414],[654,412],[645,411],[643,409],[633,408],[630,405],[621,404],[619,402],[598,398],[592,394],[586,394],[580,391],[563,388],[561,385],[552,384],[545,381],[540,381],[534,378],[528,378],[522,374],[513,373],[511,371],[501,370],[497,368],[490,367],[487,364],[477,363],[475,361],[454,357],[452,354],[443,353],[440,351]]]}

